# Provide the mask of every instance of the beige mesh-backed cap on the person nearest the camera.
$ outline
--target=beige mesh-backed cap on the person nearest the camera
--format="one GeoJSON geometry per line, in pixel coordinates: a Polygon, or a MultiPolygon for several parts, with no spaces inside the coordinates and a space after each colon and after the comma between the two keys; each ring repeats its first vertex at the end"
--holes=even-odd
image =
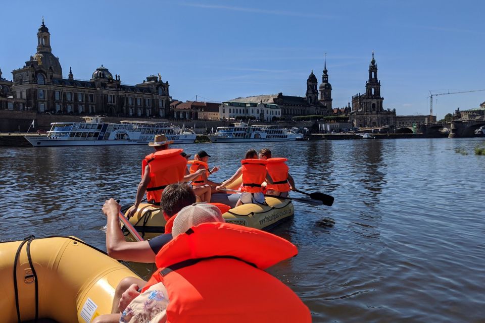
{"type": "Polygon", "coordinates": [[[225,222],[221,210],[212,204],[196,204],[182,208],[173,221],[172,236],[175,238],[191,227],[206,222],[225,222]]]}

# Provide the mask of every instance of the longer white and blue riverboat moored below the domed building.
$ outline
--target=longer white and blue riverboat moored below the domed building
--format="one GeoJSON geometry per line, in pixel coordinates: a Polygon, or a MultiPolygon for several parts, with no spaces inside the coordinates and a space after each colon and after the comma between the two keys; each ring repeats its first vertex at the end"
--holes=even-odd
{"type": "Polygon", "coordinates": [[[166,122],[122,121],[105,123],[101,116],[82,117],[83,122],[53,122],[46,136],[25,136],[34,147],[146,145],[155,135],[164,134],[174,143],[193,143],[197,135],[189,129],[166,122]]]}

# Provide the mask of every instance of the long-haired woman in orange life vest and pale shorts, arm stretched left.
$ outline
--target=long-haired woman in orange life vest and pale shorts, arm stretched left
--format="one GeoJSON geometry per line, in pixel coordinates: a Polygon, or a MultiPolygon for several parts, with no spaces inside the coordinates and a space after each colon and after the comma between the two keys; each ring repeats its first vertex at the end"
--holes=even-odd
{"type": "MultiPolygon", "coordinates": [[[[231,178],[222,182],[216,189],[224,190],[226,186],[232,184],[242,175],[242,193],[241,197],[237,200],[236,207],[248,203],[266,204],[261,186],[267,177],[266,160],[258,159],[258,152],[254,149],[249,149],[246,152],[245,159],[241,160],[241,165],[231,178]]],[[[271,179],[269,180],[271,182],[271,179]]]]}

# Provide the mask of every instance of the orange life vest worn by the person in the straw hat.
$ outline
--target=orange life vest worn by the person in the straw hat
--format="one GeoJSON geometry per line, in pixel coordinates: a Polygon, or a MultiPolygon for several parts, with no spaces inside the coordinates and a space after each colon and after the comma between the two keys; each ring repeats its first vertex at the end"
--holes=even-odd
{"type": "Polygon", "coordinates": [[[141,165],[141,177],[145,167],[150,167],[150,183],[147,186],[147,200],[160,203],[163,189],[182,181],[185,176],[187,160],[180,155],[182,149],[165,149],[145,157],[141,165]]]}

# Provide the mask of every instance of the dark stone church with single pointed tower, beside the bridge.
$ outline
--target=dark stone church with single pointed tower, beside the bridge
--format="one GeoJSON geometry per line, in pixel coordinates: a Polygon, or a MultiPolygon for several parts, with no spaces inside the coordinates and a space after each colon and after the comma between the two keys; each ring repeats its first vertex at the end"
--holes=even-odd
{"type": "Polygon", "coordinates": [[[352,96],[350,122],[354,127],[381,127],[396,124],[396,109],[384,110],[380,96],[380,81],[377,79],[377,64],[374,52],[369,64],[369,80],[365,82],[365,93],[352,96]]]}

